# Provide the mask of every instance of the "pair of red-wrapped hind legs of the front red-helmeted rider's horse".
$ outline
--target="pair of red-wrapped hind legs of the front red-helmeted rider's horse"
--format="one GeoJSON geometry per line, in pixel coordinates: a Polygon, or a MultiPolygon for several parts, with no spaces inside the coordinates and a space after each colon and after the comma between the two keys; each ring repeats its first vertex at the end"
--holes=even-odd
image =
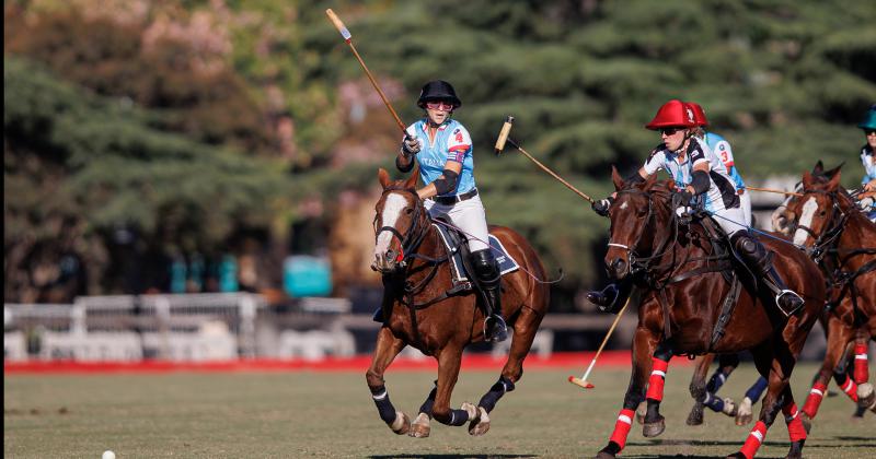
{"type": "MultiPolygon", "coordinates": [[[[742,448],[728,456],[728,458],[753,458],[766,436],[766,429],[770,428],[775,421],[775,416],[779,415],[779,411],[784,407],[785,401],[782,396],[787,393],[788,400],[793,403],[793,398],[789,397],[788,380],[791,379],[791,370],[794,367],[794,356],[788,352],[773,350],[773,345],[772,342],[768,341],[752,350],[758,372],[761,376],[766,377],[769,381],[766,396],[763,398],[759,420],[754,423],[754,427],[746,438],[742,448]],[[777,352],[782,352],[782,354],[777,355],[777,352]]],[[[792,412],[789,405],[788,412],[792,412]]],[[[796,412],[796,407],[794,407],[793,412],[796,412]]],[[[806,431],[803,428],[802,423],[798,424],[799,416],[795,416],[793,421],[793,432],[792,428],[788,429],[788,432],[792,432],[792,451],[799,450],[806,440],[806,431]]]]}

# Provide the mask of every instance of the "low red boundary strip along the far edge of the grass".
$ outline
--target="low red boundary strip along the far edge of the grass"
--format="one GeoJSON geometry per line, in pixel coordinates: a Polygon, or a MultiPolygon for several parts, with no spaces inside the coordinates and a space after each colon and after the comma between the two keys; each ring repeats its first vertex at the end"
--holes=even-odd
{"type": "MultiPolygon", "coordinates": [[[[550,357],[542,358],[538,355],[527,357],[525,367],[527,369],[540,368],[580,368],[584,369],[593,358],[593,352],[561,352],[554,353],[550,357]]],[[[355,357],[327,357],[320,361],[306,360],[235,360],[220,362],[169,362],[169,361],[143,361],[136,363],[128,362],[74,362],[74,361],[51,361],[51,362],[4,362],[3,374],[160,374],[172,372],[196,372],[196,373],[233,373],[233,372],[365,372],[371,362],[370,355],[358,355],[355,357]]],[[[685,364],[687,358],[677,357],[672,361],[673,366],[685,364]]],[[[466,354],[462,357],[463,369],[500,369],[505,364],[505,356],[494,358],[489,354],[466,354]]],[[[607,351],[597,361],[597,367],[630,367],[630,351],[607,351]]],[[[438,364],[435,358],[397,358],[393,362],[390,370],[437,370],[438,364]]]]}

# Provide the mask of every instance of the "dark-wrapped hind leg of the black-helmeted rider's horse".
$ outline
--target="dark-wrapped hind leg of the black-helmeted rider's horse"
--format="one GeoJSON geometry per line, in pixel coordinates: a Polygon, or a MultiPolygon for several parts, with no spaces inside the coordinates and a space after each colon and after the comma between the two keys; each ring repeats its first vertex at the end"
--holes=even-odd
{"type": "Polygon", "coordinates": [[[481,397],[477,402],[477,417],[469,424],[469,434],[484,435],[489,431],[489,413],[496,408],[502,396],[515,389],[515,382],[523,376],[523,360],[532,348],[532,340],[535,339],[540,320],[534,313],[525,310],[514,326],[511,337],[511,348],[508,351],[508,360],[502,368],[498,381],[481,397]]]}

